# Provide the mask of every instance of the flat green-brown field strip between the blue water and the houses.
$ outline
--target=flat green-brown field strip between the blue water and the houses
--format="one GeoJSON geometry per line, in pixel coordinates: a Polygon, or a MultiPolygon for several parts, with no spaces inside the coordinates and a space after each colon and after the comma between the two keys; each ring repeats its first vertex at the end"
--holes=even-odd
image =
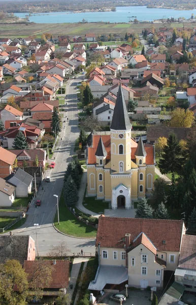
{"type": "Polygon", "coordinates": [[[0,37],[28,37],[30,35],[37,35],[37,38],[41,38],[41,35],[46,32],[50,32],[54,37],[58,35],[80,35],[84,38],[84,35],[88,32],[92,32],[95,35],[107,34],[120,34],[127,33],[141,33],[142,29],[150,28],[152,26],[159,28],[161,26],[168,27],[193,27],[193,23],[104,23],[104,22],[92,22],[92,23],[10,23],[1,24],[0,37]]]}

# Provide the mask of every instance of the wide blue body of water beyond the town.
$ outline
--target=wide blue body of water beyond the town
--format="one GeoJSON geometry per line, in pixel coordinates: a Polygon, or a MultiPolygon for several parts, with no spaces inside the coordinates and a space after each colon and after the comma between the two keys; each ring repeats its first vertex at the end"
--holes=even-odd
{"type": "MultiPolygon", "coordinates": [[[[116,12],[88,12],[88,13],[73,13],[73,12],[56,12],[56,13],[40,13],[33,14],[29,17],[30,22],[36,23],[73,23],[82,21],[88,22],[128,22],[134,19],[133,16],[140,21],[161,18],[179,18],[186,19],[191,17],[191,14],[196,15],[196,9],[177,11],[174,9],[147,9],[146,7],[131,6],[131,7],[116,7],[116,12]],[[132,18],[131,18],[132,17],[132,18]]],[[[24,18],[26,13],[15,13],[17,17],[24,18]]]]}

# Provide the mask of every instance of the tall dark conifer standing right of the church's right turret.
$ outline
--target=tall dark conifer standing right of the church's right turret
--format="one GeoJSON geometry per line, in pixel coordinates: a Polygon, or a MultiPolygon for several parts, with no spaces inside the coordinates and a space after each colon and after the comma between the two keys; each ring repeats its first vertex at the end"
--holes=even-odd
{"type": "Polygon", "coordinates": [[[180,173],[183,165],[183,158],[181,155],[181,147],[175,134],[171,134],[168,138],[168,143],[164,147],[158,166],[162,174],[180,173]]]}

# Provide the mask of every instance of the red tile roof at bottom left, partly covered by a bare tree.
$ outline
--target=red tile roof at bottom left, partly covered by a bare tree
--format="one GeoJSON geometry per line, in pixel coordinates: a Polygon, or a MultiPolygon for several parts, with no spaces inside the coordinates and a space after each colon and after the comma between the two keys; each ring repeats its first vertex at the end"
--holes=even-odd
{"type": "MultiPolygon", "coordinates": [[[[27,279],[30,282],[30,279],[34,275],[36,268],[39,267],[39,265],[43,264],[44,266],[51,266],[52,267],[52,273],[51,278],[52,280],[48,282],[48,279],[46,278],[46,275],[44,275],[43,272],[43,279],[46,281],[44,283],[44,288],[68,288],[69,286],[69,266],[70,262],[65,260],[56,260],[56,264],[53,264],[53,261],[24,261],[24,271],[27,273],[27,279]]],[[[42,265],[42,266],[43,266],[42,265]]],[[[40,281],[36,283],[37,288],[42,288],[39,286],[40,281]]],[[[30,283],[29,283],[29,287],[30,283]]]]}

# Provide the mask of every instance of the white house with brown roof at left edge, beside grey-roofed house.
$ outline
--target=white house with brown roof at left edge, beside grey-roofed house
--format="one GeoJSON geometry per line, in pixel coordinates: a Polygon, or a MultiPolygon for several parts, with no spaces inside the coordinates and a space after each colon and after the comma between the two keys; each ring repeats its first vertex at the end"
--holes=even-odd
{"type": "Polygon", "coordinates": [[[15,199],[16,188],[0,178],[0,206],[11,206],[15,199]]]}

